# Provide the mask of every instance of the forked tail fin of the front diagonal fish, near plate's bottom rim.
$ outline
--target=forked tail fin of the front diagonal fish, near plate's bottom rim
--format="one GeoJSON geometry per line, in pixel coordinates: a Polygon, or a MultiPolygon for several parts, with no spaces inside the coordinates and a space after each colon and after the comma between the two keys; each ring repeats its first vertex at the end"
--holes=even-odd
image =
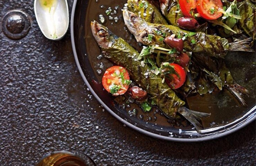
{"type": "Polygon", "coordinates": [[[195,127],[198,133],[201,133],[201,127],[202,127],[199,120],[201,120],[201,118],[206,118],[211,115],[211,113],[193,111],[186,107],[180,107],[177,110],[177,112],[179,112],[184,118],[186,118],[195,127]]]}

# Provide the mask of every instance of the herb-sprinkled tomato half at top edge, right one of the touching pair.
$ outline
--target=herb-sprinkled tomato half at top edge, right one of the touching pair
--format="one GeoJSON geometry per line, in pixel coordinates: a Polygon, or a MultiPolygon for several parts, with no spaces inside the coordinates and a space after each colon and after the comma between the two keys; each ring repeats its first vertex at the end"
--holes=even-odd
{"type": "Polygon", "coordinates": [[[201,17],[207,20],[215,20],[222,15],[219,10],[223,9],[223,4],[221,0],[198,0],[196,9],[201,17]]]}

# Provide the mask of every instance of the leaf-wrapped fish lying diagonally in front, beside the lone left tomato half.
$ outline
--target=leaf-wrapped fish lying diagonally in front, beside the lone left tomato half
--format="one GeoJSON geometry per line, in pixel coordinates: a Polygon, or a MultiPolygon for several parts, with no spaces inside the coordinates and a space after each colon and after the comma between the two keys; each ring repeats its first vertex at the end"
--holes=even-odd
{"type": "Polygon", "coordinates": [[[104,56],[113,63],[126,68],[131,79],[150,94],[150,98],[157,107],[168,117],[175,118],[176,113],[180,113],[193,124],[198,132],[201,131],[199,119],[210,116],[209,113],[185,108],[185,102],[166,83],[162,83],[161,76],[152,73],[147,64],[141,65],[141,61],[138,60],[139,53],[125,40],[113,35],[107,27],[93,21],[91,29],[104,56]]]}

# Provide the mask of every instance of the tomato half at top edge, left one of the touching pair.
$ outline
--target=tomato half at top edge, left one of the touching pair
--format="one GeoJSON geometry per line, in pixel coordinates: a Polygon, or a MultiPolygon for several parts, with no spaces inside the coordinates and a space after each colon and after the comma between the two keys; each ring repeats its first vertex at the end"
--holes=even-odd
{"type": "Polygon", "coordinates": [[[196,0],[180,0],[179,4],[184,16],[193,17],[192,13],[196,9],[196,0]]]}

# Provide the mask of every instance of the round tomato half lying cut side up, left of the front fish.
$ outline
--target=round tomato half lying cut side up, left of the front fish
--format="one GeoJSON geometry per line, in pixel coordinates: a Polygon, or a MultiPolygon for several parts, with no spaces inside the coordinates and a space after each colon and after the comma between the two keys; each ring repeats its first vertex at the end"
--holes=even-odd
{"type": "Polygon", "coordinates": [[[124,94],[129,87],[130,77],[121,66],[109,67],[102,77],[103,87],[114,96],[124,94]]]}

